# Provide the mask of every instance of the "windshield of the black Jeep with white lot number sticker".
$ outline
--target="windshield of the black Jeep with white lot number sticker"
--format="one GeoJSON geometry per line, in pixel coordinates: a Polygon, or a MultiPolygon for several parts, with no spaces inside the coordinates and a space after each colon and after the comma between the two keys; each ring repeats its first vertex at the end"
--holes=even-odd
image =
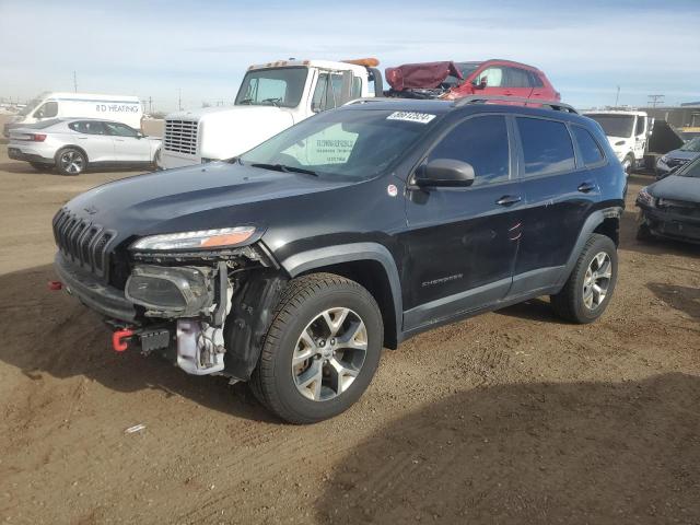
{"type": "Polygon", "coordinates": [[[240,160],[334,178],[371,178],[410,151],[433,127],[435,117],[386,109],[325,112],[262,142],[240,160]]]}

